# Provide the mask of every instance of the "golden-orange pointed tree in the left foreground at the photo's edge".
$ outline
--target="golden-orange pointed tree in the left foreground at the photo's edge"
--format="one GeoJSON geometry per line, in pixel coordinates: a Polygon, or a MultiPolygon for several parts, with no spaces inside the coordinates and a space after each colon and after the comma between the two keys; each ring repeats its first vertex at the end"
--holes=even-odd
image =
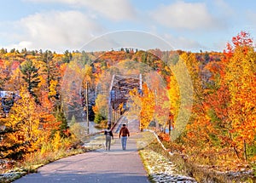
{"type": "Polygon", "coordinates": [[[26,89],[20,90],[20,99],[15,102],[5,123],[8,133],[4,136],[1,156],[20,159],[26,153],[38,150],[41,133],[37,104],[26,89]]]}

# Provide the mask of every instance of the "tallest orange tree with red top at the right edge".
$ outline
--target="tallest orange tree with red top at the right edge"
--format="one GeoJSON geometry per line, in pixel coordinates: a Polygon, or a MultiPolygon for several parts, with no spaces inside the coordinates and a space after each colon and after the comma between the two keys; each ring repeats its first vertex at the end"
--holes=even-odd
{"type": "Polygon", "coordinates": [[[247,159],[247,144],[253,145],[256,136],[256,54],[250,35],[241,31],[224,53],[227,62],[224,82],[230,91],[231,134],[238,150],[247,159]]]}

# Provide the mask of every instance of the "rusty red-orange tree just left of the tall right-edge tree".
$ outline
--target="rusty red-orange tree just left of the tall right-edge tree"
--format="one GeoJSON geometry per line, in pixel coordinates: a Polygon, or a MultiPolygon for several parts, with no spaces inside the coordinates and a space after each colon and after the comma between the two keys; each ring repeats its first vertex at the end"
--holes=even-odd
{"type": "Polygon", "coordinates": [[[206,83],[205,100],[203,109],[206,118],[210,120],[210,125],[214,127],[208,133],[212,146],[216,149],[227,147],[236,151],[236,146],[232,143],[230,130],[232,129],[228,117],[230,104],[230,91],[226,83],[222,82],[225,65],[223,62],[212,61],[207,63],[205,69],[209,71],[210,78],[206,83]]]}

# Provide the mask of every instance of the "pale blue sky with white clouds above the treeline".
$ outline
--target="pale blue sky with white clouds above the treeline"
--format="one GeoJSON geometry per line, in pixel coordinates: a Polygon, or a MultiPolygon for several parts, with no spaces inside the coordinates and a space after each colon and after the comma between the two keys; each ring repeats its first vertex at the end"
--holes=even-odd
{"type": "Polygon", "coordinates": [[[127,30],[160,37],[172,49],[221,52],[240,31],[255,40],[256,1],[8,0],[0,6],[0,48],[8,50],[81,50],[127,30]]]}

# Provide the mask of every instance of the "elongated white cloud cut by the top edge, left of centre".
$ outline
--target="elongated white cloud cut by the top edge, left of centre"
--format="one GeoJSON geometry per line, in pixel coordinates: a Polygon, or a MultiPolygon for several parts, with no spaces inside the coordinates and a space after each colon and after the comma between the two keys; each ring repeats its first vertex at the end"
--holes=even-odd
{"type": "Polygon", "coordinates": [[[110,20],[135,20],[136,10],[128,0],[26,0],[33,3],[65,3],[87,8],[110,20]]]}

